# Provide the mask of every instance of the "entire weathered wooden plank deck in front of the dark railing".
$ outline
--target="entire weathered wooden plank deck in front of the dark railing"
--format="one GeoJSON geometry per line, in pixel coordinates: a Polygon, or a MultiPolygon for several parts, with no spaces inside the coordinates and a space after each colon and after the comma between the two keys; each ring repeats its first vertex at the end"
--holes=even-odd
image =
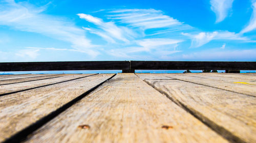
{"type": "Polygon", "coordinates": [[[256,74],[0,75],[0,142],[256,142],[256,74]]]}

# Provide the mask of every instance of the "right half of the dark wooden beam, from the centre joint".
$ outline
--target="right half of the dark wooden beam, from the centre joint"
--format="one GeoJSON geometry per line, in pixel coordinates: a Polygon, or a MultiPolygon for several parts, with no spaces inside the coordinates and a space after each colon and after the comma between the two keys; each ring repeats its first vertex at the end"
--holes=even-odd
{"type": "Polygon", "coordinates": [[[256,62],[131,61],[135,70],[256,70],[256,62]]]}

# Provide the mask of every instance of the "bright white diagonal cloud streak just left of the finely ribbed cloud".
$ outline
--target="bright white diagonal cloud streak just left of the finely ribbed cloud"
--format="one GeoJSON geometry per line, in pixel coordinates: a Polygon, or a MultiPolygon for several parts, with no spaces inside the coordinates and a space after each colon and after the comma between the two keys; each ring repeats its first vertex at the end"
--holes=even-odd
{"type": "Polygon", "coordinates": [[[87,20],[88,22],[92,22],[95,25],[97,25],[99,28],[101,28],[103,32],[94,32],[97,35],[103,37],[104,39],[110,39],[109,37],[106,37],[106,35],[110,35],[112,38],[121,40],[123,42],[129,42],[128,38],[133,37],[134,33],[129,30],[127,27],[123,26],[117,26],[114,22],[104,22],[102,19],[93,17],[89,14],[77,14],[80,18],[87,20]]]}

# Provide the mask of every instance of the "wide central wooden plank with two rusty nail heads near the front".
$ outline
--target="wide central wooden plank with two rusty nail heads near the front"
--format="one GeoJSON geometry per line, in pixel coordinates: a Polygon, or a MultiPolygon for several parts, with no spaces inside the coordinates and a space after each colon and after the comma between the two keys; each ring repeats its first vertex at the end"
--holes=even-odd
{"type": "Polygon", "coordinates": [[[227,142],[131,73],[104,83],[26,142],[49,141],[227,142]]]}

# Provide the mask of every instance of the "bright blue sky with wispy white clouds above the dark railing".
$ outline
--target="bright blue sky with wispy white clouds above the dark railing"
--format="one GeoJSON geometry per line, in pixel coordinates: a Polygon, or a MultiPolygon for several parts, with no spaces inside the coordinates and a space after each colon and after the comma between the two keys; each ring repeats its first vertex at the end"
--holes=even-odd
{"type": "Polygon", "coordinates": [[[0,62],[256,61],[256,1],[0,0],[0,62]]]}

